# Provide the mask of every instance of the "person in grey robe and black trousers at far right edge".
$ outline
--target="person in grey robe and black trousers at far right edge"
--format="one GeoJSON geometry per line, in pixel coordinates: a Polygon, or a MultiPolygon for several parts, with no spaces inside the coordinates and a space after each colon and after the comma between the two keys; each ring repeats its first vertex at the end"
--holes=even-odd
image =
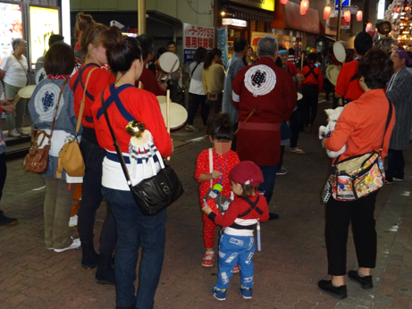
{"type": "Polygon", "coordinates": [[[386,89],[386,97],[395,106],[396,124],[389,144],[386,183],[404,179],[405,159],[402,151],[409,148],[412,126],[412,75],[407,68],[412,60],[404,50],[395,49],[391,54],[391,61],[394,74],[386,89]]]}

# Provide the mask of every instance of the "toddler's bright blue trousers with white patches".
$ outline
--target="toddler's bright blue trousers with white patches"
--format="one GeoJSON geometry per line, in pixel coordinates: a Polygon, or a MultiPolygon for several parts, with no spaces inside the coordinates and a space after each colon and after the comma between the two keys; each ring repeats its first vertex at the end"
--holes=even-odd
{"type": "Polygon", "coordinates": [[[233,267],[240,268],[240,282],[245,288],[253,287],[253,260],[256,251],[253,236],[223,234],[219,244],[219,273],[215,287],[227,289],[233,274],[233,267]]]}

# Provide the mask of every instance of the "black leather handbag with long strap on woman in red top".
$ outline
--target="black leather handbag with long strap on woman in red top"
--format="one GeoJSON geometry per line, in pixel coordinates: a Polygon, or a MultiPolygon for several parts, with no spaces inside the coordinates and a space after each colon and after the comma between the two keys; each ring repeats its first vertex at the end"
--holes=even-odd
{"type": "MultiPolygon", "coordinates": [[[[110,129],[110,133],[114,141],[114,148],[116,149],[116,153],[122,165],[124,176],[126,177],[127,184],[136,204],[139,206],[140,211],[146,215],[156,215],[157,213],[161,213],[183,194],[181,180],[179,180],[178,175],[172,167],[165,165],[164,169],[158,171],[155,176],[152,176],[146,180],[141,180],[139,184],[133,186],[131,184],[129,171],[127,170],[126,163],[124,162],[122,151],[117,144],[114,130],[110,125],[109,115],[107,114],[107,108],[103,98],[103,92],[101,101],[103,112],[105,113],[105,120],[107,121],[107,126],[110,129]]],[[[163,159],[159,158],[159,160],[163,159]]]]}

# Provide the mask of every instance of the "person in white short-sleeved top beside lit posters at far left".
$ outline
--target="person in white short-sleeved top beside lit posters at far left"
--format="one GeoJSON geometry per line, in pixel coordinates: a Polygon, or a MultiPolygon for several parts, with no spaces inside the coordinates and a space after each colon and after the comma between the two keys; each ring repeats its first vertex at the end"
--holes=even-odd
{"type": "MultiPolygon", "coordinates": [[[[5,97],[16,96],[19,90],[28,84],[27,71],[29,70],[29,65],[24,56],[26,53],[26,44],[27,42],[25,40],[15,38],[12,42],[13,53],[6,55],[0,66],[0,79],[4,81],[5,97]]],[[[26,99],[20,99],[16,104],[15,111],[7,115],[6,125],[9,131],[9,137],[20,138],[22,135],[29,135],[29,133],[21,129],[26,103],[26,99]]]]}

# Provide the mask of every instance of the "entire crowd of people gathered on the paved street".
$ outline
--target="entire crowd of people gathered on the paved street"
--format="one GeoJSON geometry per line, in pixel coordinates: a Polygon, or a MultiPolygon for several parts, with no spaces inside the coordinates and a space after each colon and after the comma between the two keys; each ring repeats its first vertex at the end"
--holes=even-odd
{"type": "MultiPolygon", "coordinates": [[[[158,63],[153,62],[154,41],[150,36],[124,37],[116,26],[108,29],[83,13],[77,17],[76,34],[74,49],[63,43],[61,36],[50,38],[48,51],[38,60],[37,70],[44,70],[45,76],[29,100],[33,127],[39,132],[36,142],[50,146],[43,173],[45,246],[56,253],[81,246],[82,268],[97,268],[97,283],[115,286],[116,308],[153,308],[164,261],[166,210],[153,216],[142,213],[129,185],[156,175],[162,169],[162,160],[172,154],[172,139],[156,96],[163,96],[166,89],[176,96],[181,63],[167,84],[162,83],[158,63]],[[143,122],[151,133],[155,145],[153,163],[134,159],[125,129],[130,121],[143,122]],[[123,159],[116,154],[112,129],[123,159]],[[65,171],[61,177],[56,175],[59,151],[74,138],[80,140],[85,163],[77,239],[71,237],[68,222],[74,190],[71,184],[80,180],[65,171]],[[124,177],[122,160],[130,171],[130,184],[124,177]],[[93,230],[103,198],[108,212],[97,254],[93,230]],[[140,246],[143,255],[136,294],[140,246]]],[[[15,39],[13,54],[0,67],[7,97],[0,111],[8,114],[8,134],[13,138],[29,134],[22,130],[26,103],[21,100],[14,106],[11,99],[27,84],[28,68],[23,55],[26,44],[15,39]]],[[[298,70],[294,50],[278,46],[272,36],[261,38],[256,52],[245,38],[236,38],[234,54],[226,67],[218,48],[207,51],[200,47],[194,54],[194,62],[189,65],[191,104],[186,129],[198,130],[194,119],[200,108],[203,129],[212,143],[198,155],[195,174],[204,213],[204,267],[214,264],[216,226],[224,228],[219,240],[218,280],[212,288],[216,299],[225,300],[231,276],[239,271],[240,293],[244,298],[252,297],[252,257],[259,246],[254,230],[260,222],[279,218],[279,214],[269,213],[268,204],[276,176],[287,172],[282,167],[285,146],[290,146],[291,153],[305,154],[298,148],[298,137],[300,132],[313,129],[318,95],[323,88],[327,100],[332,92],[337,98],[342,97],[344,104],[335,129],[322,140],[328,150],[339,151],[346,146],[345,152],[332,161],[333,168],[375,152],[382,158],[388,155],[387,184],[404,180],[402,150],[408,148],[412,127],[412,88],[408,87],[412,76],[407,66],[412,59],[402,49],[393,50],[390,56],[374,48],[366,32],[357,35],[354,46],[352,61],[342,65],[330,50],[320,63],[318,54],[310,53],[302,70],[298,70]],[[330,80],[324,79],[325,67],[332,63],[341,67],[334,89],[330,80]],[[303,96],[301,99],[298,93],[303,96]]],[[[167,49],[158,54],[165,51],[176,53],[176,44],[169,42],[167,49]]],[[[0,133],[1,198],[6,164],[4,135],[0,133]]],[[[349,279],[362,288],[373,288],[371,270],[377,247],[374,204],[378,192],[350,201],[336,194],[324,200],[328,274],[332,279],[320,280],[318,286],[336,298],[347,296],[349,222],[359,264],[358,271],[348,272],[349,279]]],[[[0,213],[1,225],[15,223],[16,219],[0,213]]]]}

